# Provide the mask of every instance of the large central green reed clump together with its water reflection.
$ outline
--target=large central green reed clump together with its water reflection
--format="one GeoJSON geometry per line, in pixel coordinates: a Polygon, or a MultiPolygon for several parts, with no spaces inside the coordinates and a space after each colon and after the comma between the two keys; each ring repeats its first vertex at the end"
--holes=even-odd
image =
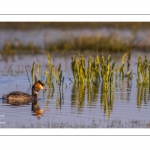
{"type": "MultiPolygon", "coordinates": [[[[79,96],[73,94],[72,98],[75,101],[75,105],[84,103],[85,88],[87,88],[88,104],[91,105],[94,98],[98,94],[98,89],[101,83],[101,102],[103,109],[106,112],[107,117],[110,117],[110,111],[113,107],[114,99],[114,67],[115,62],[111,62],[111,55],[108,57],[95,56],[94,58],[89,57],[87,60],[87,67],[85,66],[85,58],[83,55],[78,54],[72,57],[71,69],[74,77],[74,88],[79,89],[77,92],[79,96]],[[94,91],[92,91],[92,89],[94,91]],[[80,91],[81,90],[81,91],[80,91]],[[92,92],[91,92],[92,91],[92,92]],[[82,93],[81,93],[82,92],[82,93]]],[[[76,89],[76,90],[77,90],[76,89]]]]}

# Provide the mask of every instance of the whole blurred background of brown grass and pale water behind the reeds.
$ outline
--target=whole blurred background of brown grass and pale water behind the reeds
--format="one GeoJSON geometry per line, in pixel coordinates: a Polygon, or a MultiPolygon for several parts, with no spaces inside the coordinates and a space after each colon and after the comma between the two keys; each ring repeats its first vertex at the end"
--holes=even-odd
{"type": "Polygon", "coordinates": [[[0,54],[150,50],[149,22],[0,22],[0,54]]]}

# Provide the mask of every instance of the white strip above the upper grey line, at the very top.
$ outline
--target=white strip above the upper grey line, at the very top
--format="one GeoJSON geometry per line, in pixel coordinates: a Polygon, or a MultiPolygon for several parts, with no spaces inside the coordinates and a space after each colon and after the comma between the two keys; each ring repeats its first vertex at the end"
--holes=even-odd
{"type": "Polygon", "coordinates": [[[5,0],[0,14],[147,14],[148,0],[5,0]]]}

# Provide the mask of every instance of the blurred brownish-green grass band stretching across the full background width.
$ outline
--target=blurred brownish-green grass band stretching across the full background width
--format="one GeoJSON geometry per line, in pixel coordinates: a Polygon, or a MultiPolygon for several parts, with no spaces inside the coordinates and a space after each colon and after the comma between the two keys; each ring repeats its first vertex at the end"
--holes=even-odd
{"type": "Polygon", "coordinates": [[[31,54],[45,54],[48,52],[55,52],[61,54],[67,54],[68,52],[90,52],[91,50],[96,52],[131,52],[134,49],[150,50],[150,45],[145,42],[135,43],[133,37],[126,39],[120,37],[114,33],[104,35],[79,35],[77,37],[71,36],[57,41],[49,41],[45,43],[44,47],[34,44],[33,42],[23,43],[19,40],[14,42],[6,41],[2,45],[0,55],[6,57],[13,57],[15,55],[31,55],[31,54]]]}

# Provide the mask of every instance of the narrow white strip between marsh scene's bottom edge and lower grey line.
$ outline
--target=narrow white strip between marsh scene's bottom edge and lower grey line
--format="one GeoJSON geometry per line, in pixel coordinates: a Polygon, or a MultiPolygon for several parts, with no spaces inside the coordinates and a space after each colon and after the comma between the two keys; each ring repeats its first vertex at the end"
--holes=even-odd
{"type": "Polygon", "coordinates": [[[60,135],[64,135],[64,136],[71,136],[71,135],[75,135],[75,136],[89,136],[89,135],[96,135],[96,136],[127,136],[127,135],[134,135],[134,136],[138,136],[138,135],[150,135],[150,130],[149,129],[109,129],[109,128],[87,128],[87,129],[78,129],[78,128],[71,128],[71,129],[57,129],[57,128],[40,128],[40,129],[35,129],[35,128],[31,128],[31,129],[0,129],[0,135],[49,135],[49,136],[60,136],[60,135]]]}

